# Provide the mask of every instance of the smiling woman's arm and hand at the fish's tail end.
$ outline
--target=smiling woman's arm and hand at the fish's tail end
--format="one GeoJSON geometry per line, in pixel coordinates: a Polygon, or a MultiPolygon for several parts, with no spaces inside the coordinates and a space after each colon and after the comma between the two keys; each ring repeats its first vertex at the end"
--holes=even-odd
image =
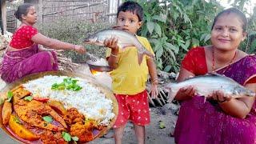
{"type": "MultiPolygon", "coordinates": [[[[179,71],[179,74],[178,74],[177,82],[181,82],[186,78],[190,78],[190,77],[194,77],[194,74],[191,73],[189,70],[186,70],[181,67],[181,70],[179,71]]],[[[184,100],[193,98],[194,94],[195,94],[195,89],[193,86],[182,87],[180,90],[178,90],[178,93],[176,94],[175,99],[178,101],[184,101],[184,100]]]]}

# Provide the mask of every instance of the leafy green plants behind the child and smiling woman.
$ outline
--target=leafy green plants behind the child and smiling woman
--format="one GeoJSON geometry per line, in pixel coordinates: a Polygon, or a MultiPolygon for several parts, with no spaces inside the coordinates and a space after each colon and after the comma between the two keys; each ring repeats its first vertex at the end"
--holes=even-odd
{"type": "MultiPolygon", "coordinates": [[[[250,0],[234,1],[234,6],[246,11],[250,0]]],[[[158,69],[178,72],[186,52],[194,46],[210,45],[210,29],[216,14],[223,10],[218,1],[212,0],[151,0],[136,1],[144,10],[144,24],[139,34],[149,38],[156,54],[158,69]]],[[[241,49],[249,53],[256,50],[255,19],[250,15],[249,38],[241,49]]]]}

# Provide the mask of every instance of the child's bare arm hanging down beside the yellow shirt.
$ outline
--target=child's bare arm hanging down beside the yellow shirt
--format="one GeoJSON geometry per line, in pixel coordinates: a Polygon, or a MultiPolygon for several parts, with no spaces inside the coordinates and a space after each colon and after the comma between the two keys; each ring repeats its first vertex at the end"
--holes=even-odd
{"type": "Polygon", "coordinates": [[[158,74],[157,68],[154,64],[154,60],[152,58],[146,59],[146,64],[149,68],[150,78],[151,78],[151,96],[153,98],[158,98],[158,74]]]}

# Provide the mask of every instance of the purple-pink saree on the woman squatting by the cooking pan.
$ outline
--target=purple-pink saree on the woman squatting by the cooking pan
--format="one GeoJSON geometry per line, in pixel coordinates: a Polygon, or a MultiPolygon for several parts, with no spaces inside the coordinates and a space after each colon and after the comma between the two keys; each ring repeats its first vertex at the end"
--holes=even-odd
{"type": "Polygon", "coordinates": [[[28,74],[58,70],[58,60],[54,51],[40,51],[38,45],[22,50],[6,51],[0,74],[5,82],[14,82],[28,74]]]}

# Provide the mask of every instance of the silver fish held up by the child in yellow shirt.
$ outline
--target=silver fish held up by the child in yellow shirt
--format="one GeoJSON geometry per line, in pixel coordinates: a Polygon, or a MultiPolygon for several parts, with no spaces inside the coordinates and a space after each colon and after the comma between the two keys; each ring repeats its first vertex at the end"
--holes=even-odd
{"type": "Polygon", "coordinates": [[[118,47],[125,49],[127,46],[135,46],[138,50],[138,64],[142,63],[143,55],[146,54],[150,58],[154,58],[149,50],[146,50],[142,43],[138,41],[138,38],[134,34],[130,34],[125,30],[118,29],[104,29],[88,36],[84,42],[86,44],[93,44],[97,46],[104,46],[104,41],[109,38],[118,38],[118,47]]]}

